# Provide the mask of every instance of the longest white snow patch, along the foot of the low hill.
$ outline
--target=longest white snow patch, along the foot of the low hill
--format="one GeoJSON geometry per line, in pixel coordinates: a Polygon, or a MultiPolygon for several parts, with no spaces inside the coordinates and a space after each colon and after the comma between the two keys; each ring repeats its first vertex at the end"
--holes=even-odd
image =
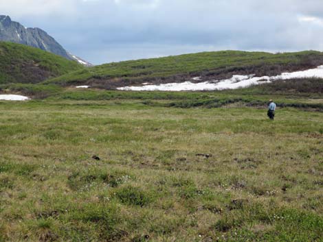
{"type": "MultiPolygon", "coordinates": [[[[252,85],[264,84],[274,82],[276,80],[290,80],[295,78],[309,78],[321,77],[323,78],[323,66],[318,66],[315,69],[307,71],[296,71],[291,73],[282,73],[276,76],[263,76],[255,77],[254,75],[234,75],[227,80],[214,80],[210,82],[181,82],[181,83],[168,83],[159,85],[144,85],[144,86],[126,86],[118,88],[118,90],[224,90],[244,88],[252,85]]],[[[194,77],[192,80],[201,80],[201,77],[194,77]]]]}

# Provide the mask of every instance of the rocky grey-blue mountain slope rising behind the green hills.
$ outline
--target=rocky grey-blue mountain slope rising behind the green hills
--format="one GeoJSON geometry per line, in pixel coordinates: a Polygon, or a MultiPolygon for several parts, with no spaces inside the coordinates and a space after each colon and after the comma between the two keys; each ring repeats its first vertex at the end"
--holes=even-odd
{"type": "Polygon", "coordinates": [[[0,15],[0,41],[19,43],[43,49],[69,60],[76,60],[85,66],[91,66],[89,62],[67,52],[52,36],[49,36],[49,34],[43,31],[43,29],[37,27],[26,28],[20,23],[12,21],[10,16],[0,15]]]}

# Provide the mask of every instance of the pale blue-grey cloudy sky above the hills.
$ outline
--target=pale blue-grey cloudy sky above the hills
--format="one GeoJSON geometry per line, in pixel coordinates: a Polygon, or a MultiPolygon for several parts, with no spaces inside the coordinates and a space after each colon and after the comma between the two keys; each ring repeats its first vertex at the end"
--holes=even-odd
{"type": "Polygon", "coordinates": [[[0,0],[93,64],[223,49],[323,51],[322,0],[0,0]]]}

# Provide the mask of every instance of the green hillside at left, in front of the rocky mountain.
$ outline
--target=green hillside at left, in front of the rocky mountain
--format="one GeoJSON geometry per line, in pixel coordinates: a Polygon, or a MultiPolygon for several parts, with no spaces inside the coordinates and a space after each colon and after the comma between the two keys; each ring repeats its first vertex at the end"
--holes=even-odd
{"type": "Polygon", "coordinates": [[[38,83],[82,69],[77,62],[41,49],[0,42],[0,84],[38,83]]]}

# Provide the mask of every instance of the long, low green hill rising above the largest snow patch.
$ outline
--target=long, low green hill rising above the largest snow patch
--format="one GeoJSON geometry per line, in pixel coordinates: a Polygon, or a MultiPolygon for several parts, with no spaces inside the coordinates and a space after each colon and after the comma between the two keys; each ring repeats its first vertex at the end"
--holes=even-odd
{"type": "Polygon", "coordinates": [[[101,88],[115,88],[143,82],[182,82],[189,77],[203,80],[231,77],[234,74],[276,75],[283,71],[309,69],[323,64],[323,53],[265,53],[218,51],[168,56],[146,60],[114,62],[81,69],[45,83],[70,86],[90,84],[101,88]]]}

